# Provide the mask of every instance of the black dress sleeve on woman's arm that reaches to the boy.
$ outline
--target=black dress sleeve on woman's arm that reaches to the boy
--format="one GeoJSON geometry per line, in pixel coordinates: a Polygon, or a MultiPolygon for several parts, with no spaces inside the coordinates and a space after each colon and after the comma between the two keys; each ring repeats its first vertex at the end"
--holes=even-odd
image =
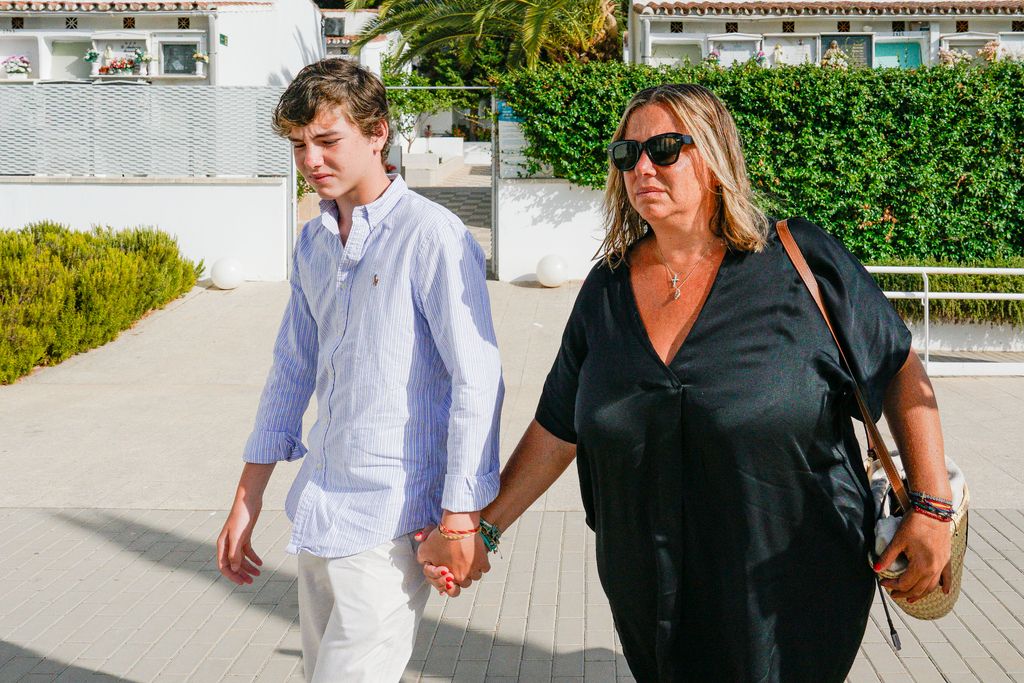
{"type": "Polygon", "coordinates": [[[593,296],[595,280],[600,276],[595,267],[580,288],[572,312],[569,314],[562,345],[544,382],[541,401],[537,405],[537,421],[549,432],[569,443],[577,442],[575,399],[580,386],[580,369],[587,357],[586,313],[587,301],[593,296]]]}

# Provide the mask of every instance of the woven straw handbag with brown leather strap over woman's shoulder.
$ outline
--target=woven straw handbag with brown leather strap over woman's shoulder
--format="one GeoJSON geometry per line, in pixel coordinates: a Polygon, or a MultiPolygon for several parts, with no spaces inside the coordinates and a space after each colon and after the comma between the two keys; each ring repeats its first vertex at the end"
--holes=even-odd
{"type": "MultiPolygon", "coordinates": [[[[797,271],[800,273],[800,279],[804,282],[808,291],[810,291],[811,297],[818,306],[818,310],[821,311],[821,315],[825,318],[828,331],[831,333],[833,339],[839,347],[839,354],[843,360],[843,365],[846,366],[850,376],[853,377],[853,369],[850,367],[850,362],[846,359],[846,354],[843,353],[843,345],[840,344],[839,337],[833,329],[828,312],[825,310],[824,302],[821,299],[821,292],[818,289],[818,284],[814,280],[814,275],[811,272],[810,267],[807,265],[807,261],[804,259],[804,255],[800,251],[800,247],[797,246],[796,241],[793,239],[793,234],[790,232],[790,227],[786,224],[786,221],[780,220],[776,223],[776,230],[778,231],[778,237],[782,242],[782,247],[785,249],[785,253],[788,255],[790,260],[793,261],[797,271]]],[[[911,505],[910,498],[906,493],[906,473],[903,470],[903,464],[899,458],[899,453],[896,451],[890,451],[886,445],[885,439],[882,437],[882,433],[879,431],[878,425],[876,425],[874,421],[871,419],[871,414],[867,410],[867,403],[864,401],[863,393],[861,392],[860,387],[856,384],[856,381],[854,382],[854,397],[857,400],[857,408],[860,411],[861,418],[864,422],[864,429],[867,432],[867,457],[864,459],[864,466],[867,470],[868,481],[871,486],[871,496],[874,500],[876,514],[874,554],[872,556],[871,553],[868,553],[868,562],[873,565],[878,556],[885,551],[886,547],[893,540],[893,537],[896,535],[896,529],[899,528],[902,515],[909,513],[911,505]]],[[[936,587],[936,589],[931,593],[913,603],[907,602],[903,598],[893,598],[893,602],[895,602],[900,609],[914,618],[934,620],[945,616],[950,610],[952,610],[953,604],[956,602],[956,598],[959,597],[961,579],[964,574],[964,555],[967,552],[968,505],[970,503],[970,495],[968,494],[964,473],[949,458],[946,458],[946,470],[949,476],[949,485],[950,488],[952,488],[952,507],[954,511],[952,521],[949,523],[952,545],[950,554],[952,587],[949,593],[944,593],[941,588],[936,587]]],[[[895,579],[905,569],[906,558],[903,555],[900,555],[896,561],[894,561],[886,570],[880,571],[878,575],[883,579],[895,579]]],[[[884,604],[885,599],[883,598],[883,605],[884,604]]],[[[886,615],[888,616],[888,607],[886,608],[886,615]]],[[[890,633],[893,635],[893,644],[896,645],[896,649],[899,649],[899,639],[895,635],[895,629],[892,628],[891,621],[889,626],[890,633]]]]}

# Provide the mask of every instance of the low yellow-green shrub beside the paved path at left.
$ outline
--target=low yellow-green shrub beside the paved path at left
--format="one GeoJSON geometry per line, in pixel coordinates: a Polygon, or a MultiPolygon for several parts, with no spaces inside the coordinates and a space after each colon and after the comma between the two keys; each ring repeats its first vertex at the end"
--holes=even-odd
{"type": "Polygon", "coordinates": [[[191,289],[203,267],[150,228],[0,230],[0,384],[111,341],[191,289]]]}

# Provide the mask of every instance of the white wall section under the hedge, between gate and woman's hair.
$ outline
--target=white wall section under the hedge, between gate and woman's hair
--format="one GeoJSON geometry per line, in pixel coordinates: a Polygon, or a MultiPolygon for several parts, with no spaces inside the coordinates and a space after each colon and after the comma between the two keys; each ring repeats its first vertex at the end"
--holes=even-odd
{"type": "Polygon", "coordinates": [[[583,280],[601,246],[602,193],[565,180],[498,180],[498,279],[537,280],[537,263],[561,256],[569,280],[583,280]]]}

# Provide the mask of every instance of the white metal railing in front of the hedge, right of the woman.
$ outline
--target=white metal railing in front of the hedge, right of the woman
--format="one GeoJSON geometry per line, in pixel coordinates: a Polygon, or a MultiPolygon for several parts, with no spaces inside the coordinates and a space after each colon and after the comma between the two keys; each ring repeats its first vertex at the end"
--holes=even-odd
{"type": "Polygon", "coordinates": [[[869,265],[872,273],[921,275],[920,292],[884,292],[889,299],[918,299],[925,306],[925,370],[929,375],[1024,375],[1024,362],[931,362],[931,301],[961,299],[982,301],[1024,301],[1024,294],[1009,292],[932,292],[929,275],[1024,275],[1024,268],[952,268],[905,265],[869,265]]]}

